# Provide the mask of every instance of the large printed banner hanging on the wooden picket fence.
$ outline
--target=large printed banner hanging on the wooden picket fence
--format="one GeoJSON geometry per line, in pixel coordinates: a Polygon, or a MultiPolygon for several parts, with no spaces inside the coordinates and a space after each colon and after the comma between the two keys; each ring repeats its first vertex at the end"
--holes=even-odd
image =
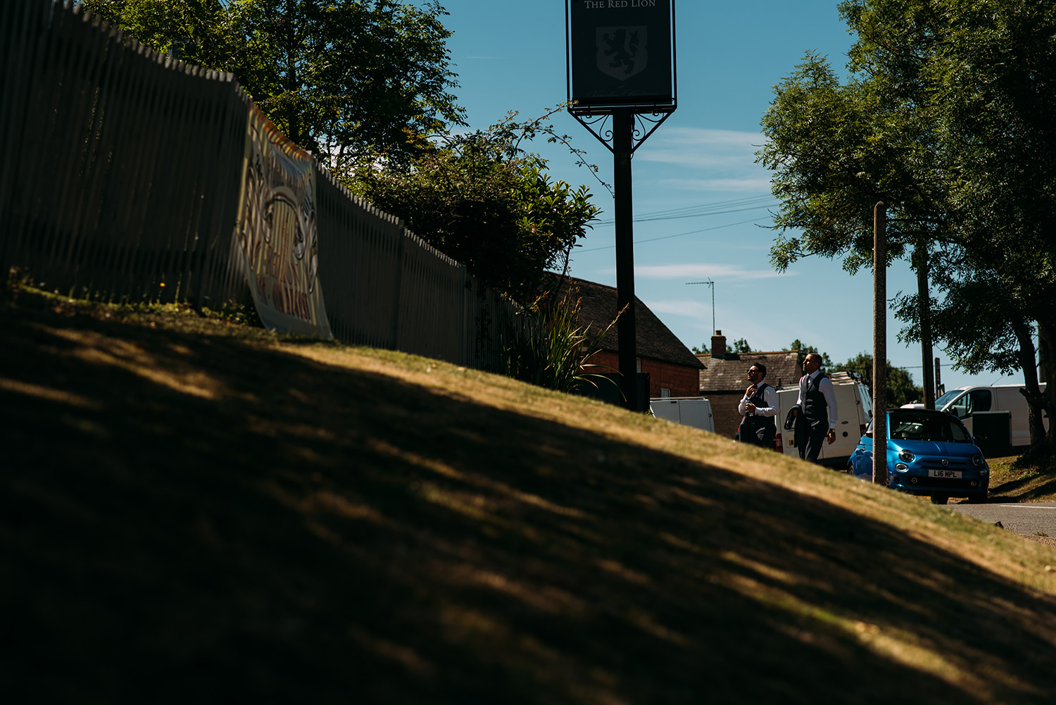
{"type": "Polygon", "coordinates": [[[265,328],[334,337],[319,285],[312,155],[250,104],[239,200],[239,251],[265,328]]]}

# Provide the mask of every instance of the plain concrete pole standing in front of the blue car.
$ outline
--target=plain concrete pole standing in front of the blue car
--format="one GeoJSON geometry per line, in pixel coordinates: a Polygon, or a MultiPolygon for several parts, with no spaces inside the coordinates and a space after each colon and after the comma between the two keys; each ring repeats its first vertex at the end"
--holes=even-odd
{"type": "Polygon", "coordinates": [[[872,481],[887,485],[887,206],[872,209],[872,481]]]}

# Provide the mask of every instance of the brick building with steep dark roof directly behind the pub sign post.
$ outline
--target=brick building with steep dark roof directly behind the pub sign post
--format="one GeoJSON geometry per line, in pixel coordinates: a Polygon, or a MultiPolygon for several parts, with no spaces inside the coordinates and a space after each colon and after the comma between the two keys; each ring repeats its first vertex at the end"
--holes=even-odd
{"type": "MultiPolygon", "coordinates": [[[[580,298],[580,324],[591,331],[603,330],[617,314],[615,286],[605,286],[585,279],[566,277],[561,291],[571,286],[580,298]]],[[[647,305],[635,298],[635,337],[638,371],[649,375],[649,396],[700,396],[699,373],[704,364],[657,318],[647,305]]],[[[620,369],[616,326],[601,341],[601,350],[589,360],[620,369]]]]}

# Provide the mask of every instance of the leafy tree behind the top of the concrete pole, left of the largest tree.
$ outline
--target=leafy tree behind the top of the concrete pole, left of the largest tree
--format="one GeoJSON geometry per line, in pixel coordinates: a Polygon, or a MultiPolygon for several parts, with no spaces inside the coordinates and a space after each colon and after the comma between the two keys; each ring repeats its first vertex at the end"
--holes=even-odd
{"type": "MultiPolygon", "coordinates": [[[[912,80],[893,78],[855,50],[845,85],[825,58],[809,53],[775,88],[763,116],[770,140],[758,161],[773,171],[782,202],[771,259],[779,271],[811,255],[843,257],[852,274],[871,270],[873,206],[884,202],[888,263],[910,258],[926,312],[931,252],[950,238],[934,115],[912,80]]],[[[918,319],[922,359],[930,359],[930,319],[918,319]]]]}

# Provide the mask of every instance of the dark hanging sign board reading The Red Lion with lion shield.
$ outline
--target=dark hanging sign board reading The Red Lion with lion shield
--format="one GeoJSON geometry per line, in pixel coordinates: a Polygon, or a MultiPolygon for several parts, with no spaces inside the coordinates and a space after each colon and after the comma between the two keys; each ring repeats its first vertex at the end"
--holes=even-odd
{"type": "Polygon", "coordinates": [[[566,1],[571,110],[674,110],[674,0],[566,1]]]}

